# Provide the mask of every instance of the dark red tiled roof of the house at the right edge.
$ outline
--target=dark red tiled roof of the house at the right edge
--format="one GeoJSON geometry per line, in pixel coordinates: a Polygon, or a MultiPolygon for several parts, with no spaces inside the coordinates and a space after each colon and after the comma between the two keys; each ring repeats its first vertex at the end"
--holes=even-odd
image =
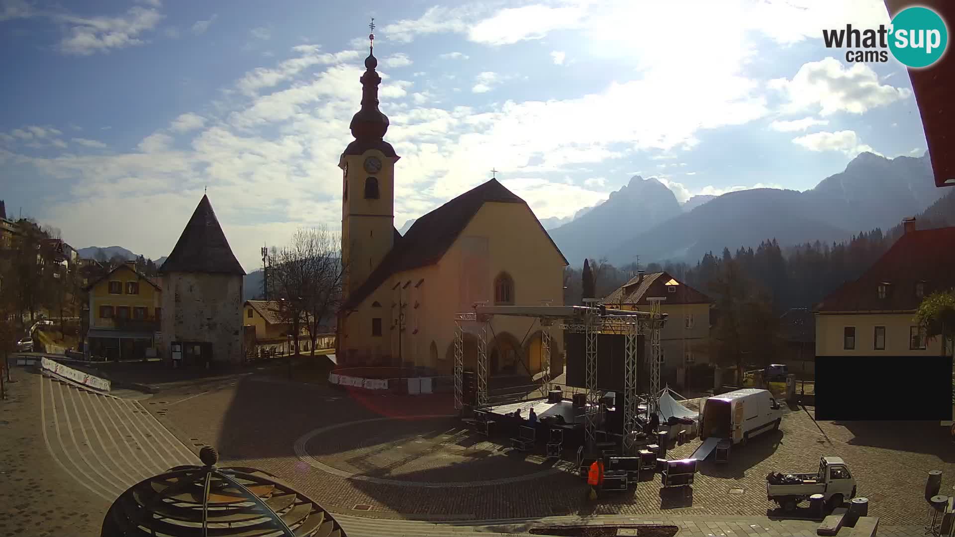
{"type": "Polygon", "coordinates": [[[816,311],[914,311],[924,294],[955,287],[955,227],[908,231],[859,279],[822,299],[816,311]],[[879,286],[889,284],[885,298],[879,286]]]}

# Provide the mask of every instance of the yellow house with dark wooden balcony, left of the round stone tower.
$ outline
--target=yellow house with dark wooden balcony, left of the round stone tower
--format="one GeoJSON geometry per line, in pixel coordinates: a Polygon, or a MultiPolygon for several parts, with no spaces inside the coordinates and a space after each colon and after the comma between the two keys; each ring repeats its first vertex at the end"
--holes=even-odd
{"type": "Polygon", "coordinates": [[[155,334],[162,318],[159,285],[127,261],[86,288],[89,293],[90,356],[110,360],[156,355],[155,334]]]}

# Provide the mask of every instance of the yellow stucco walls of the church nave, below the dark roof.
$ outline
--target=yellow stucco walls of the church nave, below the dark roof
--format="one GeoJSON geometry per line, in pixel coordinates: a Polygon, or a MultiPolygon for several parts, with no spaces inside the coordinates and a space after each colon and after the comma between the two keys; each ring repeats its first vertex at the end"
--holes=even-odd
{"type": "MultiPolygon", "coordinates": [[[[450,375],[456,312],[471,310],[475,302],[494,304],[494,282],[502,273],[513,281],[513,304],[561,305],[564,267],[560,251],[526,204],[485,203],[434,265],[393,274],[345,316],[340,348],[345,355],[450,375]],[[399,311],[404,312],[402,330],[399,311]]],[[[525,367],[539,373],[540,330],[535,319],[495,317],[487,333],[491,373],[520,374],[525,367]]],[[[556,367],[563,350],[556,329],[551,349],[556,367]]],[[[465,362],[466,367],[477,363],[475,337],[465,338],[465,362]]]]}

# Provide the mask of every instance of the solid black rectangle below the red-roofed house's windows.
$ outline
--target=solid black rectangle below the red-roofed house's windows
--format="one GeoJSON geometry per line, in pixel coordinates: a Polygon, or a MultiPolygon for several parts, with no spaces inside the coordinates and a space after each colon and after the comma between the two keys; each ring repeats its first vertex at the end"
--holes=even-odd
{"type": "Polygon", "coordinates": [[[952,358],[816,356],[816,419],[952,419],[952,358]]]}

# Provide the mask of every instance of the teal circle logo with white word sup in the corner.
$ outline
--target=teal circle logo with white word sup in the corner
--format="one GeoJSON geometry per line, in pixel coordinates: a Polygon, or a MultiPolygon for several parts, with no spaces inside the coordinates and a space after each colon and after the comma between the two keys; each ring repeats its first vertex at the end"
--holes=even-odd
{"type": "Polygon", "coordinates": [[[920,68],[932,65],[948,45],[948,29],[942,17],[928,8],[899,11],[892,19],[889,50],[902,64],[920,68]]]}

